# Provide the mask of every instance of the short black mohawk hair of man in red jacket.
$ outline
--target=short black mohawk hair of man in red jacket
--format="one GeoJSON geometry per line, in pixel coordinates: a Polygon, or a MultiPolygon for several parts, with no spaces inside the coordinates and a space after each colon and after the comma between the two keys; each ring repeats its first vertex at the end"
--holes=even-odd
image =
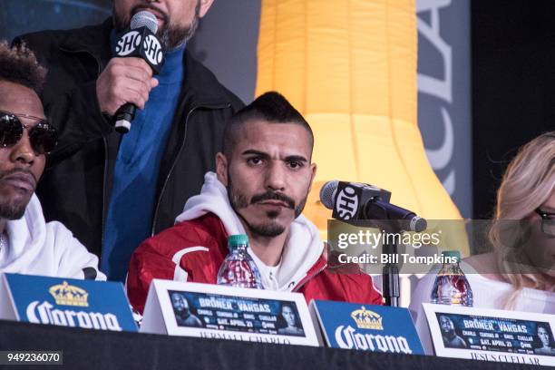
{"type": "Polygon", "coordinates": [[[235,113],[224,130],[223,153],[230,157],[239,141],[239,126],[246,122],[264,121],[269,123],[292,123],[304,127],[310,137],[310,153],[314,146],[314,134],[307,120],[280,93],[268,92],[258,96],[254,102],[235,113]]]}

